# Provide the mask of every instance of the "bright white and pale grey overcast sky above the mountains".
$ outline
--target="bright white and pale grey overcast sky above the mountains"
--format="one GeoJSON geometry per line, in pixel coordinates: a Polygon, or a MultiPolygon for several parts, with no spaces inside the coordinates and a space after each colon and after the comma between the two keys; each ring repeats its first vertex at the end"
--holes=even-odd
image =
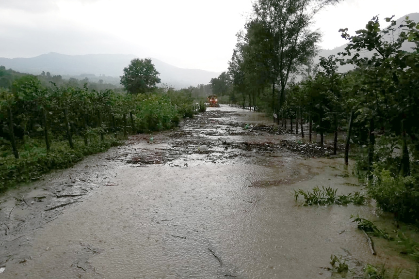
{"type": "MultiPolygon", "coordinates": [[[[226,70],[251,0],[0,0],[0,57],[122,53],[182,68],[226,70]]],[[[316,16],[322,48],[381,18],[419,12],[418,0],[343,0],[316,16]]]]}

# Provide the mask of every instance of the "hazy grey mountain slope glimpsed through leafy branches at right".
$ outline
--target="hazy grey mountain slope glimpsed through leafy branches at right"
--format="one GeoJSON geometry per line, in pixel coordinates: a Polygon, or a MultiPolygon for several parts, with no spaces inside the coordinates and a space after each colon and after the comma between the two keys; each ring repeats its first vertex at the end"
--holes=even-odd
{"type": "MultiPolygon", "coordinates": [[[[408,14],[406,16],[408,16],[409,19],[413,20],[416,23],[419,22],[419,13],[412,13],[412,14],[408,14]]],[[[400,24],[402,24],[402,22],[403,22],[403,20],[405,19],[406,16],[403,16],[403,17],[397,19],[396,20],[396,23],[397,23],[396,26],[400,26],[400,24]]],[[[380,21],[383,24],[384,18],[380,18],[380,21]]],[[[381,28],[386,28],[386,27],[387,26],[385,26],[384,24],[383,24],[383,26],[381,26],[381,28]]],[[[349,33],[355,35],[355,30],[349,31],[349,33]]],[[[388,33],[386,35],[386,40],[390,41],[392,39],[393,39],[392,35],[390,33],[388,33]]],[[[394,38],[394,39],[397,39],[397,38],[394,38]]],[[[321,56],[327,58],[327,57],[329,57],[329,55],[335,55],[336,57],[339,57],[338,53],[345,51],[345,47],[347,47],[347,46],[348,46],[348,44],[345,44],[343,46],[336,47],[334,49],[322,49],[322,50],[320,50],[319,54],[314,58],[314,63],[318,64],[320,62],[320,57],[321,56]]],[[[415,44],[412,43],[412,42],[404,42],[401,49],[405,50],[405,51],[412,51],[411,47],[415,47],[415,44]]],[[[374,54],[374,52],[376,52],[376,51],[363,51],[360,54],[360,56],[371,58],[372,55],[374,54]]],[[[349,57],[346,57],[346,58],[349,58],[349,57]]],[[[341,73],[344,73],[344,72],[347,72],[347,71],[353,70],[353,69],[354,69],[353,65],[349,65],[349,64],[348,65],[343,65],[343,66],[339,65],[338,71],[341,72],[341,73]]]]}

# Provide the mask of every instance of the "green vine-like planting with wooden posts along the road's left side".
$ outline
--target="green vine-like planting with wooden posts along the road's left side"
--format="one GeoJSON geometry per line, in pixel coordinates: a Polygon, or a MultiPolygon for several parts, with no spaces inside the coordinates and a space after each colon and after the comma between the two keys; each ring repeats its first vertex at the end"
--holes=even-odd
{"type": "Polygon", "coordinates": [[[0,88],[0,124],[7,127],[0,130],[0,191],[105,151],[119,134],[172,128],[192,116],[192,105],[190,91],[135,95],[16,78],[10,90],[0,88]]]}

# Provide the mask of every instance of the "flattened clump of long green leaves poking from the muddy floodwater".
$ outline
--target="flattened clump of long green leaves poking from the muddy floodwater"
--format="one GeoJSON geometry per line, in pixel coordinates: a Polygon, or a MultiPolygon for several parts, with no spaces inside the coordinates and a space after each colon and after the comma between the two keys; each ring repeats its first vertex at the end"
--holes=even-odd
{"type": "Polygon", "coordinates": [[[338,189],[333,189],[331,187],[324,187],[320,189],[318,186],[313,188],[313,192],[304,191],[302,189],[294,190],[295,201],[301,195],[304,197],[304,205],[329,205],[329,204],[338,204],[338,205],[348,205],[348,204],[357,204],[362,205],[365,203],[365,197],[359,192],[354,194],[349,193],[348,195],[337,195],[338,189]]]}

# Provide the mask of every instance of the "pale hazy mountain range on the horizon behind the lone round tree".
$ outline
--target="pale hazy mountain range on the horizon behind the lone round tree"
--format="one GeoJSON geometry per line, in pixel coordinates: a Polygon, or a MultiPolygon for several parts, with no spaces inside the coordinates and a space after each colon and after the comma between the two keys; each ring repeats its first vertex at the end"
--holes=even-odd
{"type": "MultiPolygon", "coordinates": [[[[124,67],[127,67],[134,58],[136,56],[125,54],[64,55],[51,52],[32,58],[0,58],[0,65],[7,69],[11,68],[34,75],[45,71],[50,72],[51,75],[78,76],[81,79],[91,79],[99,75],[119,78],[124,67]]],[[[198,69],[178,68],[155,58],[150,57],[149,59],[160,72],[161,82],[177,89],[208,84],[211,78],[217,78],[221,74],[198,69]]]]}

